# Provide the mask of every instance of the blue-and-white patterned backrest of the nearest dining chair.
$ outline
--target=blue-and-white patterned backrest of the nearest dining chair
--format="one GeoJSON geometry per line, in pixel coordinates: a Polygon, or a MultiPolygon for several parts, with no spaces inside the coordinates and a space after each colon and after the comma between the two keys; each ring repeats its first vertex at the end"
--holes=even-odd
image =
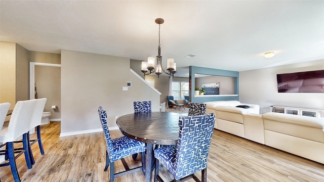
{"type": "Polygon", "coordinates": [[[176,179],[207,167],[214,123],[214,113],[202,116],[180,117],[180,131],[175,162],[176,179]]]}

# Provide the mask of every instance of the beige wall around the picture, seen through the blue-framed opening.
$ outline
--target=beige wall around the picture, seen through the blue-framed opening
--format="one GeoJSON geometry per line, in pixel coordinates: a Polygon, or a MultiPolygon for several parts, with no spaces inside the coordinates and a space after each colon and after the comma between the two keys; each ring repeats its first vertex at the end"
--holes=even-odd
{"type": "Polygon", "coordinates": [[[195,78],[195,86],[202,87],[203,83],[219,82],[219,95],[234,94],[234,78],[229,76],[204,76],[195,78]]]}

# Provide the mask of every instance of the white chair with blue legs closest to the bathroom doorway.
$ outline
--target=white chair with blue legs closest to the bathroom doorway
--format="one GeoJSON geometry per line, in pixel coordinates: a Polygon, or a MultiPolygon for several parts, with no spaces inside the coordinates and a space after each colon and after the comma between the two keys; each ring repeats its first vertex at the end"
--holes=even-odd
{"type": "Polygon", "coordinates": [[[35,99],[35,109],[32,113],[31,116],[31,121],[29,125],[29,130],[32,130],[36,127],[36,133],[37,133],[37,139],[35,140],[30,140],[29,138],[29,132],[28,132],[28,140],[29,140],[29,155],[30,155],[30,162],[31,164],[34,164],[34,157],[32,155],[31,151],[31,146],[34,145],[35,143],[38,142],[38,147],[39,150],[41,151],[41,154],[44,155],[44,148],[43,148],[43,143],[42,143],[42,138],[41,138],[41,123],[42,123],[42,116],[45,108],[45,104],[47,101],[47,98],[42,98],[42,99],[35,99]]]}

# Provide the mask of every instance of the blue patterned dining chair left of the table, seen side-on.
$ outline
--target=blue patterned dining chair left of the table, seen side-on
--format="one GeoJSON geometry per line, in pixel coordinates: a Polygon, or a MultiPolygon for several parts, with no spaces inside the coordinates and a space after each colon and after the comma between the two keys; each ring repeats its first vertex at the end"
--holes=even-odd
{"type": "Polygon", "coordinates": [[[132,140],[127,136],[121,136],[116,139],[111,139],[107,124],[107,113],[105,110],[102,109],[102,107],[99,107],[98,113],[102,129],[106,138],[106,167],[104,171],[108,169],[110,164],[110,182],[113,182],[114,178],[116,177],[143,170],[142,166],[145,166],[145,143],[132,140]],[[137,153],[142,154],[142,166],[130,169],[124,158],[137,153]],[[119,159],[123,162],[123,165],[126,170],[114,173],[114,161],[117,161],[119,159]]]}

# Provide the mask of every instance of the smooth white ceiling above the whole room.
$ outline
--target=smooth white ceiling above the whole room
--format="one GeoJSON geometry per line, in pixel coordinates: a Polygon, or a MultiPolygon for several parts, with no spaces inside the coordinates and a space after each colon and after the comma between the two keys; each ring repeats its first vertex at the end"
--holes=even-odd
{"type": "Polygon", "coordinates": [[[1,41],[244,71],[324,59],[324,1],[3,1],[1,41]],[[274,51],[271,59],[263,57],[274,51]],[[195,54],[193,58],[186,58],[195,54]]]}

